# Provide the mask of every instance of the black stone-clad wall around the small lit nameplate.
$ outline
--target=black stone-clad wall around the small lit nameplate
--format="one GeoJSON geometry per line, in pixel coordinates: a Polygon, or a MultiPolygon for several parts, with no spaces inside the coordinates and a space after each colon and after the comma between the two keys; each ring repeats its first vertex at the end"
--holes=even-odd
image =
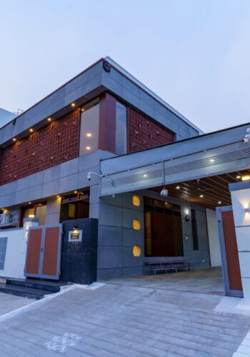
{"type": "Polygon", "coordinates": [[[98,219],[83,218],[63,222],[60,280],[91,284],[96,281],[98,219]],[[82,230],[81,242],[69,242],[69,231],[82,230]]]}

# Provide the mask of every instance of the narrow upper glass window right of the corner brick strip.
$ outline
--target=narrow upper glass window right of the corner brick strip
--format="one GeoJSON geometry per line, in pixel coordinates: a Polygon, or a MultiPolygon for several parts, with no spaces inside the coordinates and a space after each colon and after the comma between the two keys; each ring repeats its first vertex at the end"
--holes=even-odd
{"type": "Polygon", "coordinates": [[[116,102],[116,154],[126,154],[126,106],[116,102]]]}

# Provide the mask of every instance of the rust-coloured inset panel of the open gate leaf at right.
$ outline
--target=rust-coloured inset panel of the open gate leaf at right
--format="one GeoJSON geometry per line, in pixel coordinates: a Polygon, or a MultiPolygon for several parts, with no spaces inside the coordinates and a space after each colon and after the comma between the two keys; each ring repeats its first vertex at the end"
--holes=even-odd
{"type": "Polygon", "coordinates": [[[241,290],[241,270],[239,267],[238,246],[234,227],[233,211],[222,211],[222,226],[226,247],[226,265],[229,274],[229,288],[241,290]]]}

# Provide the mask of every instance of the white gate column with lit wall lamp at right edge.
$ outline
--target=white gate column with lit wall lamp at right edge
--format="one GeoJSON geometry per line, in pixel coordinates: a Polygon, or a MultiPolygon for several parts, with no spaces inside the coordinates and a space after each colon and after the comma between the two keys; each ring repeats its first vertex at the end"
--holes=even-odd
{"type": "Polygon", "coordinates": [[[229,185],[241,268],[244,300],[250,303],[250,182],[229,185]]]}

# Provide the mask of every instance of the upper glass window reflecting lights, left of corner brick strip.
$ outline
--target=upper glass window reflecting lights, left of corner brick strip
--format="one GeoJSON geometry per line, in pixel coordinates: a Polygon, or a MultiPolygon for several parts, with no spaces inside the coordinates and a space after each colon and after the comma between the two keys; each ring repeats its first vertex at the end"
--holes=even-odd
{"type": "Polygon", "coordinates": [[[81,110],[80,156],[98,149],[99,102],[91,102],[81,110]]]}

